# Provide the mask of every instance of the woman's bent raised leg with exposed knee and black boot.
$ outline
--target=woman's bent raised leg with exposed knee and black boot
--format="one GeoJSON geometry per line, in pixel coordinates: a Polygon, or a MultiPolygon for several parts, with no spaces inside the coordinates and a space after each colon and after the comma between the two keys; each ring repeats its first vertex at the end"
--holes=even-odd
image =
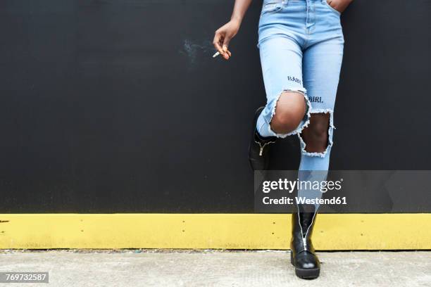
{"type": "Polygon", "coordinates": [[[268,167],[269,143],[299,134],[308,123],[310,102],[302,84],[302,51],[289,37],[274,35],[259,44],[267,103],[254,122],[249,160],[254,170],[268,167]],[[265,148],[265,149],[264,149],[265,148]]]}

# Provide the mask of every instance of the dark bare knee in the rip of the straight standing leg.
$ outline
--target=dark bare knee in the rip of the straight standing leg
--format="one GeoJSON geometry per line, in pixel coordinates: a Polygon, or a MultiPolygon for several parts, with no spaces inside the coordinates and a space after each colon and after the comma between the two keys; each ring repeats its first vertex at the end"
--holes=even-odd
{"type": "Polygon", "coordinates": [[[306,144],[306,152],[323,153],[325,152],[328,142],[328,131],[330,127],[330,113],[311,114],[310,124],[302,133],[301,138],[306,144]]]}

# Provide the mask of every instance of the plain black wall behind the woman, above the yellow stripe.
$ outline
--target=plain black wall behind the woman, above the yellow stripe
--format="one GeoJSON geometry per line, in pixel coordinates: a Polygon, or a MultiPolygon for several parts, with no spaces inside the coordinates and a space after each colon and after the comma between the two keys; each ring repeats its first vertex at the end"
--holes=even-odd
{"type": "MultiPolygon", "coordinates": [[[[211,42],[232,4],[0,1],[0,213],[253,212],[261,1],[225,62],[211,42]]],[[[431,170],[430,8],[356,0],[342,15],[332,169],[431,170]]],[[[296,169],[296,137],[273,155],[296,169]]],[[[426,189],[375,194],[351,211],[431,211],[426,189]]]]}

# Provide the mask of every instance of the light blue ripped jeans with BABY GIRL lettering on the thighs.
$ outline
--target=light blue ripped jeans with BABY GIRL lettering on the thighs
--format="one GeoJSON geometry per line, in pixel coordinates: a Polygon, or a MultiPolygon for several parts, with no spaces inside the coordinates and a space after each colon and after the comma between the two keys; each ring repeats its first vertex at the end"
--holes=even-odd
{"type": "MultiPolygon", "coordinates": [[[[326,0],[263,0],[258,48],[267,103],[258,117],[256,129],[261,136],[299,136],[299,170],[327,171],[329,168],[343,47],[340,13],[326,0]],[[277,134],[270,127],[283,91],[301,92],[308,106],[304,120],[289,134],[277,134]],[[301,138],[301,131],[307,127],[313,113],[330,113],[328,145],[323,153],[307,152],[306,142],[301,138]]],[[[321,196],[316,191],[310,192],[299,191],[299,196],[301,193],[313,198],[321,196]]]]}

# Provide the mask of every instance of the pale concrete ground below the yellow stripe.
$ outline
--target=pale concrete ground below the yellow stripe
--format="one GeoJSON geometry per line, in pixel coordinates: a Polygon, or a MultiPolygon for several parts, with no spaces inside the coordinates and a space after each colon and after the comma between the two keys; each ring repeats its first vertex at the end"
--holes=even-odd
{"type": "Polygon", "coordinates": [[[49,272],[49,286],[431,286],[431,252],[318,255],[313,281],[296,278],[289,251],[3,250],[0,272],[49,272]]]}

